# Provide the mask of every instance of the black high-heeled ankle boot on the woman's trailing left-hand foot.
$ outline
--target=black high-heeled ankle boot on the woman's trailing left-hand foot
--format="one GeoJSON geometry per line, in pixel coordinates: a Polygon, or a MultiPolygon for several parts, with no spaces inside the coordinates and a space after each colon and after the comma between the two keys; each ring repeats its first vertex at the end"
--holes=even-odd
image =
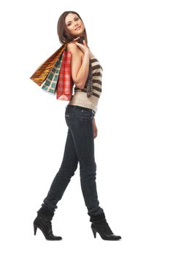
{"type": "Polygon", "coordinates": [[[61,240],[61,236],[54,236],[52,230],[51,220],[53,219],[54,212],[43,206],[37,212],[37,217],[34,219],[34,235],[36,235],[37,227],[42,231],[47,240],[61,240]]]}

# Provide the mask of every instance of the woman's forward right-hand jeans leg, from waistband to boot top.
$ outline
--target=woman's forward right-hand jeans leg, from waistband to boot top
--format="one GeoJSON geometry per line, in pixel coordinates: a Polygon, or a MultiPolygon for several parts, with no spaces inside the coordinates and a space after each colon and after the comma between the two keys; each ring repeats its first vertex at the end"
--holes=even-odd
{"type": "Polygon", "coordinates": [[[94,158],[93,112],[90,109],[69,106],[66,122],[72,132],[74,146],[80,162],[80,182],[88,215],[104,214],[99,206],[96,189],[96,162],[94,158]]]}

